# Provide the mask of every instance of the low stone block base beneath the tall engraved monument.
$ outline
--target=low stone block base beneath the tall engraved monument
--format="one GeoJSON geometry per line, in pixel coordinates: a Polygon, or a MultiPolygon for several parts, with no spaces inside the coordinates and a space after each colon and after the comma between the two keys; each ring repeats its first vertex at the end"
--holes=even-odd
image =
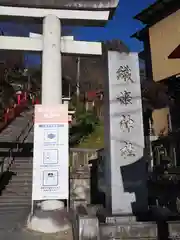
{"type": "Polygon", "coordinates": [[[99,232],[106,239],[157,239],[156,222],[139,222],[135,216],[114,216],[101,208],[96,216],[99,219],[99,232]]]}

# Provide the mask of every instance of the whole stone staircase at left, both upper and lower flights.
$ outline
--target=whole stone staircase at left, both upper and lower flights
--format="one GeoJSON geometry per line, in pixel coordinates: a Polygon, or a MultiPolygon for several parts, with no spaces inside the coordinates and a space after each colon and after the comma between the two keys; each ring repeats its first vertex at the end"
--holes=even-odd
{"type": "MultiPolygon", "coordinates": [[[[26,135],[29,135],[27,124],[31,121],[32,114],[32,109],[22,113],[4,129],[0,134],[0,146],[1,142],[25,141],[24,139],[28,137],[26,135]]],[[[32,158],[22,157],[11,160],[1,157],[0,160],[6,166],[4,169],[8,169],[1,174],[0,179],[0,229],[9,231],[24,224],[30,212],[32,158]]]]}

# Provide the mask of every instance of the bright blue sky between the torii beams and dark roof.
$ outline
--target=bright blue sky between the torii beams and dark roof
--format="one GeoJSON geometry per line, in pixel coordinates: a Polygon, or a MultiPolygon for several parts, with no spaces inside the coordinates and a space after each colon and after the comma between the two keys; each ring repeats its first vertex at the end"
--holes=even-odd
{"type": "Polygon", "coordinates": [[[142,44],[130,36],[143,25],[133,17],[154,2],[155,0],[119,0],[115,15],[105,28],[75,28],[75,37],[89,41],[121,39],[132,51],[140,51],[142,44]]]}

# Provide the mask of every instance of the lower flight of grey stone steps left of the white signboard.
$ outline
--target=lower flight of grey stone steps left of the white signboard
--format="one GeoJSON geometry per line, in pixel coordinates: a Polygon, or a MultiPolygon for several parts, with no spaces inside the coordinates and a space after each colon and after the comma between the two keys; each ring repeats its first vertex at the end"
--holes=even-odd
{"type": "Polygon", "coordinates": [[[16,229],[30,212],[32,159],[19,158],[11,167],[0,196],[0,229],[16,229]]]}

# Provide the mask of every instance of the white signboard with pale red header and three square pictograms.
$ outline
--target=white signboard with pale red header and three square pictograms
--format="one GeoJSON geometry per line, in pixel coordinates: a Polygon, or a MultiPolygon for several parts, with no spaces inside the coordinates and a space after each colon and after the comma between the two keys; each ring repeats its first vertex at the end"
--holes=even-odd
{"type": "Polygon", "coordinates": [[[68,199],[68,142],[68,105],[36,105],[32,201],[68,199]]]}

